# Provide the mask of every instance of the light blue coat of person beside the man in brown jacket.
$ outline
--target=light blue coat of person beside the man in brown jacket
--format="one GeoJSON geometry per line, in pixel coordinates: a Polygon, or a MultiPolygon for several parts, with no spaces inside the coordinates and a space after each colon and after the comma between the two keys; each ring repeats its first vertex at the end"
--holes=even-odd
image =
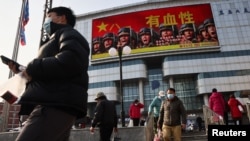
{"type": "Polygon", "coordinates": [[[161,98],[159,98],[159,96],[156,96],[148,107],[148,113],[153,112],[154,117],[159,117],[161,102],[162,102],[161,98]]]}

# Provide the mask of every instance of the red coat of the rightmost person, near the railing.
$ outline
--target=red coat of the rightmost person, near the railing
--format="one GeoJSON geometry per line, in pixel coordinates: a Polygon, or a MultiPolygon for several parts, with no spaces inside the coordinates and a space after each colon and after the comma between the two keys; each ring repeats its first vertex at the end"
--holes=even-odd
{"type": "Polygon", "coordinates": [[[236,98],[229,98],[228,105],[229,105],[230,113],[233,119],[242,118],[242,113],[239,110],[238,105],[241,105],[242,107],[243,105],[236,98]]]}

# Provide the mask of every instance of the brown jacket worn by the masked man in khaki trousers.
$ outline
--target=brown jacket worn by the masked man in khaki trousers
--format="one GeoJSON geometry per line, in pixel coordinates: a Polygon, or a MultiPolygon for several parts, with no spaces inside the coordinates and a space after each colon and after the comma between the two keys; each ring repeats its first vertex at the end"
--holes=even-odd
{"type": "Polygon", "coordinates": [[[159,127],[162,127],[163,124],[177,126],[186,123],[186,109],[182,101],[177,96],[173,100],[164,100],[160,108],[159,127]]]}

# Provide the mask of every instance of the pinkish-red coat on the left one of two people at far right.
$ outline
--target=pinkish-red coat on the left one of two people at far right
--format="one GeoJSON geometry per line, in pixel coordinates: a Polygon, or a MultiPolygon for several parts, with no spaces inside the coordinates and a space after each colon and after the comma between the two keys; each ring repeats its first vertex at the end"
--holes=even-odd
{"type": "Polygon", "coordinates": [[[221,93],[213,92],[209,97],[209,108],[222,117],[224,117],[225,105],[225,100],[221,93]]]}

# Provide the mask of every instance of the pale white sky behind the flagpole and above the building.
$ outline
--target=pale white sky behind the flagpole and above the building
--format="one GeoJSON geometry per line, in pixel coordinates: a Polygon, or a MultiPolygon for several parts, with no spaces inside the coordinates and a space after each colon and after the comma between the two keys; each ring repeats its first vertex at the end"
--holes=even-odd
{"type": "MultiPolygon", "coordinates": [[[[71,8],[75,15],[80,15],[142,1],[145,0],[53,0],[52,7],[66,6],[71,8]]],[[[0,0],[0,2],[0,55],[12,58],[22,0],[0,0]]],[[[29,0],[29,22],[25,26],[26,45],[19,46],[17,57],[17,62],[24,66],[37,55],[44,6],[45,0],[29,0]]],[[[7,65],[0,63],[0,84],[7,81],[8,77],[7,65]]]]}

